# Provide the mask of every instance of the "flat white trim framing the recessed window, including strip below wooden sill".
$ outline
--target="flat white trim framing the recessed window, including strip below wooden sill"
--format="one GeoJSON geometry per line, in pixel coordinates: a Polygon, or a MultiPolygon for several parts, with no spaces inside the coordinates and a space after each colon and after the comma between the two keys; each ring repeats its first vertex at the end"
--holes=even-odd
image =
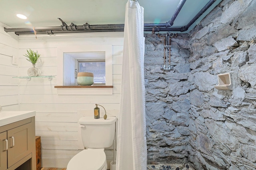
{"type": "MultiPolygon", "coordinates": [[[[64,86],[64,53],[83,53],[83,52],[105,52],[106,63],[106,86],[112,86],[112,45],[84,45],[84,46],[68,46],[57,48],[57,86],[64,86]]],[[[58,94],[112,94],[112,88],[83,88],[83,89],[68,89],[58,88],[58,94]],[[74,91],[72,93],[71,91],[74,91]],[[84,92],[83,92],[84,91],[84,92]],[[94,92],[95,91],[95,92],[94,92]]]]}

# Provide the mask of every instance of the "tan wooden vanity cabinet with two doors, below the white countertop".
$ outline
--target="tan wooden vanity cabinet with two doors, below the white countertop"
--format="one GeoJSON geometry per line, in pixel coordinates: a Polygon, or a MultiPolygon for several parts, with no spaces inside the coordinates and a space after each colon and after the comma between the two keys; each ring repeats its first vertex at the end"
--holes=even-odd
{"type": "Polygon", "coordinates": [[[0,127],[0,170],[36,170],[35,117],[0,127]]]}

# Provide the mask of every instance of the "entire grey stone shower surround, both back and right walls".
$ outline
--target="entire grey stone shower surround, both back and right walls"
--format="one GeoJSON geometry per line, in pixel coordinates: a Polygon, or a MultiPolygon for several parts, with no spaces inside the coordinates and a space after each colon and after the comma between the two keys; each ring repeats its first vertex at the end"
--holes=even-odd
{"type": "Polygon", "coordinates": [[[255,9],[256,0],[223,0],[172,37],[174,72],[160,70],[163,38],[145,35],[148,164],[256,169],[255,9]],[[226,72],[232,90],[215,89],[226,72]]]}

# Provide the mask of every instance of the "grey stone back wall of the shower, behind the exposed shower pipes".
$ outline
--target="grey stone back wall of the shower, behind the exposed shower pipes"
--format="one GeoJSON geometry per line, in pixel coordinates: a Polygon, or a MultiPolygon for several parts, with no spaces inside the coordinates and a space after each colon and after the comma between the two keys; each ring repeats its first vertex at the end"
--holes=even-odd
{"type": "MultiPolygon", "coordinates": [[[[164,35],[162,35],[164,36],[164,35]]],[[[175,71],[162,71],[164,38],[145,34],[146,137],[148,164],[188,162],[190,57],[188,35],[171,38],[175,71]]]]}

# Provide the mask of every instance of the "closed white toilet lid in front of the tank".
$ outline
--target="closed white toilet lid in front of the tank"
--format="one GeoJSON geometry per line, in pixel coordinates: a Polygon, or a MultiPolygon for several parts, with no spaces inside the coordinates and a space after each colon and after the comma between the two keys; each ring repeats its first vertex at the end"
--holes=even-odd
{"type": "Polygon", "coordinates": [[[68,170],[101,170],[106,164],[106,154],[103,149],[84,149],[69,162],[68,170]]]}

